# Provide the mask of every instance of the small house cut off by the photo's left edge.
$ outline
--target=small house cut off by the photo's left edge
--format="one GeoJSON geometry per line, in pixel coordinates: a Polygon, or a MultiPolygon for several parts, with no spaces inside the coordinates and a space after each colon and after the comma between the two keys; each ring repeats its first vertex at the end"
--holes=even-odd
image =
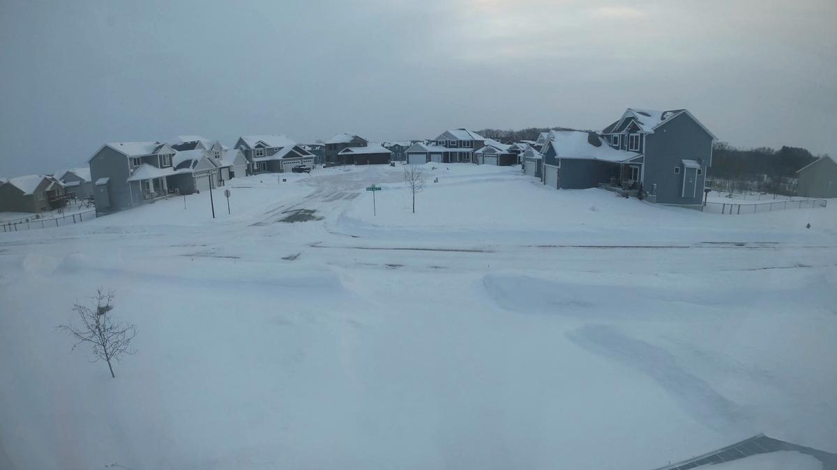
{"type": "Polygon", "coordinates": [[[65,204],[64,187],[53,176],[18,176],[0,183],[0,212],[38,213],[65,204]]]}

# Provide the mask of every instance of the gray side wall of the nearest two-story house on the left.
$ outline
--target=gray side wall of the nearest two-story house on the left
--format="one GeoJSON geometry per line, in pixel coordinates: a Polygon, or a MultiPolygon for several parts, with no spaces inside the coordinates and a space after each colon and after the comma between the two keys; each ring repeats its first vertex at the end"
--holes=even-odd
{"type": "MultiPolygon", "coordinates": [[[[133,206],[130,185],[126,182],[130,175],[128,157],[124,154],[108,146],[96,152],[95,156],[90,159],[90,180],[95,182],[100,178],[110,178],[108,184],[105,185],[106,198],[100,194],[100,187],[96,188],[94,192],[97,213],[121,211],[133,206]],[[107,200],[110,200],[110,207],[108,207],[107,200]]],[[[135,193],[139,194],[138,184],[135,193]]]]}

